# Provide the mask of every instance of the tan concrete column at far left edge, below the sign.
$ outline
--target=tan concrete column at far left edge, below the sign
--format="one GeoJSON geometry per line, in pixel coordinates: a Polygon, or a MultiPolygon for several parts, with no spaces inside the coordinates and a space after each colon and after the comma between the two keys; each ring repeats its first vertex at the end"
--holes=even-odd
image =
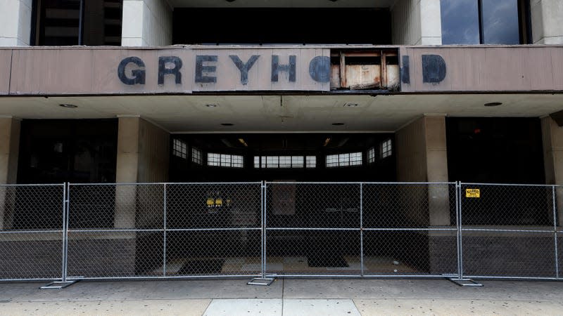
{"type": "MultiPolygon", "coordinates": [[[[13,184],[18,175],[20,121],[0,118],[0,184],[13,184]]],[[[6,210],[13,201],[6,199],[6,187],[0,187],[0,230],[11,226],[11,214],[6,210]]]]}

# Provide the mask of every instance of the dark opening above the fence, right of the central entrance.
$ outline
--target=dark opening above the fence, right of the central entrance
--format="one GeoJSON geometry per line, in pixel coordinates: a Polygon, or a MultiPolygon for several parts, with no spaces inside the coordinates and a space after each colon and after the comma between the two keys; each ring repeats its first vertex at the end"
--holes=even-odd
{"type": "Polygon", "coordinates": [[[545,184],[540,119],[446,118],[448,178],[545,184]]]}

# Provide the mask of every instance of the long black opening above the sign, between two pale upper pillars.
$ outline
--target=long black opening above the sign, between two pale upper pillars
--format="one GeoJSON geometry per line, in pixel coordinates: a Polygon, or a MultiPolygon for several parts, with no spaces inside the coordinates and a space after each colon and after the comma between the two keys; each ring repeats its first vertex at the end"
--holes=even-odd
{"type": "Polygon", "coordinates": [[[172,28],[172,44],[391,44],[387,8],[175,8],[172,28]]]}

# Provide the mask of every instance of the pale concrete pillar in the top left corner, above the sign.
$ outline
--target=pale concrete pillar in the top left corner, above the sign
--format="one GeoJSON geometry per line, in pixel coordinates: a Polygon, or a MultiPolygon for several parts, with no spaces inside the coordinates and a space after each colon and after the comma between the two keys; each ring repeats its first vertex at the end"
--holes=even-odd
{"type": "Polygon", "coordinates": [[[32,0],[0,0],[0,46],[29,46],[32,0]]]}

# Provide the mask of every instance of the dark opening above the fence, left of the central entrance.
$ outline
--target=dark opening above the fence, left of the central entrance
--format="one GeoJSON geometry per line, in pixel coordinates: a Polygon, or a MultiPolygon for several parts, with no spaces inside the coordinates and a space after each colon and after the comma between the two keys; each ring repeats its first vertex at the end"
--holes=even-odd
{"type": "Polygon", "coordinates": [[[24,119],[18,183],[113,183],[117,119],[24,119]]]}

